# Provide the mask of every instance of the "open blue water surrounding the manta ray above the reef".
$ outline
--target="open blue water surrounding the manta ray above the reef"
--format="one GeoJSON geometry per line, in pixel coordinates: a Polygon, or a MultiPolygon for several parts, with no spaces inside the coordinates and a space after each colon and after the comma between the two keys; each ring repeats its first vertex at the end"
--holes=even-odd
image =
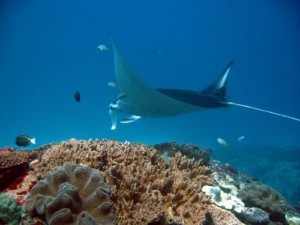
{"type": "Polygon", "coordinates": [[[2,0],[0,147],[20,134],[37,138],[31,149],[70,138],[194,143],[299,204],[299,122],[233,106],[111,131],[113,55],[97,48],[113,37],[155,88],[200,91],[233,59],[230,101],[299,118],[299,28],[296,0],[2,0]]]}

